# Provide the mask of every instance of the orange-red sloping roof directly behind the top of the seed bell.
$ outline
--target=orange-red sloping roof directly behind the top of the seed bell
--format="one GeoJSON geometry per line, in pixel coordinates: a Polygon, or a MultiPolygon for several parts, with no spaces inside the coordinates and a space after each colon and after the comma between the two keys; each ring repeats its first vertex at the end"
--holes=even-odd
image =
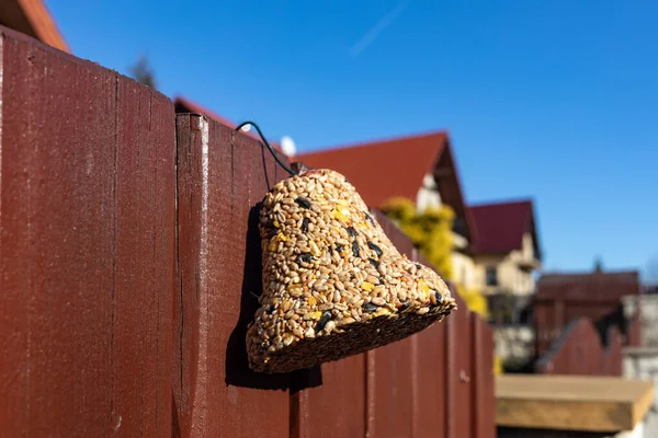
{"type": "Polygon", "coordinates": [[[432,173],[446,145],[447,135],[434,132],[325,149],[295,160],[342,173],[365,204],[379,207],[394,196],[416,201],[424,175],[432,173]]]}

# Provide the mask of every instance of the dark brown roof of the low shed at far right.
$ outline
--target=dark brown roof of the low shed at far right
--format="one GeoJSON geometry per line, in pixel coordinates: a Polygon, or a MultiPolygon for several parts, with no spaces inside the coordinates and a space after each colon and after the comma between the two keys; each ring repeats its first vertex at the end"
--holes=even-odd
{"type": "Polygon", "coordinates": [[[619,300],[640,290],[637,270],[549,273],[540,277],[536,299],[619,300]]]}

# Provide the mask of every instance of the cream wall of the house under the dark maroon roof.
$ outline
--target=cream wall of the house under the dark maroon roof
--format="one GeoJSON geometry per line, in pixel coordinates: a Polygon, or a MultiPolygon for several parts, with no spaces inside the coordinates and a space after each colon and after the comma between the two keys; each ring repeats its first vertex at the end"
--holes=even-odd
{"type": "Polygon", "coordinates": [[[475,283],[484,293],[511,292],[514,295],[530,295],[535,289],[532,272],[521,268],[521,262],[535,261],[532,237],[523,235],[521,250],[514,250],[504,255],[478,255],[475,257],[475,283]],[[498,286],[487,286],[487,268],[496,266],[498,286]]]}

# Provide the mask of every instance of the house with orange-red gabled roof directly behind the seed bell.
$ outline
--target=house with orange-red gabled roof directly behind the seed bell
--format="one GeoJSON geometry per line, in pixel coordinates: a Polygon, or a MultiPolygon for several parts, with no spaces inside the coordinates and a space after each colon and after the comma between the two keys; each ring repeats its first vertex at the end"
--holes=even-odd
{"type": "Polygon", "coordinates": [[[324,149],[297,155],[295,160],[311,168],[328,168],[342,173],[363,200],[374,208],[393,197],[411,199],[418,209],[442,204],[450,206],[455,212],[452,255],[455,280],[467,288],[474,286],[473,220],[462,194],[446,132],[324,149]]]}

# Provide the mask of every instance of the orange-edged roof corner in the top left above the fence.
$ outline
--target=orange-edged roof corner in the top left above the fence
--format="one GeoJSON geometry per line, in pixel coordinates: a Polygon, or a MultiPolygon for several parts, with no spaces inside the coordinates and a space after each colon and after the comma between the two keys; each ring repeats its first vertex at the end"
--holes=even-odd
{"type": "Polygon", "coordinates": [[[55,20],[41,0],[3,0],[0,24],[32,36],[59,50],[70,53],[55,20]]]}

